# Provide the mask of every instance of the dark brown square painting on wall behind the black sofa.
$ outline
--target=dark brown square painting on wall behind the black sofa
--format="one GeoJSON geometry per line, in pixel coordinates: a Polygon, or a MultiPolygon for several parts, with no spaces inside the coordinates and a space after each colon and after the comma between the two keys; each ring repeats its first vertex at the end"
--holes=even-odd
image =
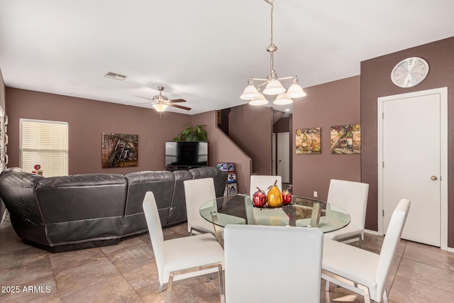
{"type": "Polygon", "coordinates": [[[102,133],[102,168],[138,166],[138,135],[102,133]]]}

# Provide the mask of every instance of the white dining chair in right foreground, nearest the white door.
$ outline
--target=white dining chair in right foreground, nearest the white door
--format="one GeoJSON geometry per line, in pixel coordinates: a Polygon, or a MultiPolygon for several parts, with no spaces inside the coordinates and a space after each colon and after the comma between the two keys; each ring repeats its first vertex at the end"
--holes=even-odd
{"type": "Polygon", "coordinates": [[[326,239],[323,241],[322,279],[326,291],[330,282],[364,296],[365,302],[388,302],[385,284],[396,255],[409,213],[410,200],[402,199],[394,209],[380,255],[355,246],[326,239]]]}

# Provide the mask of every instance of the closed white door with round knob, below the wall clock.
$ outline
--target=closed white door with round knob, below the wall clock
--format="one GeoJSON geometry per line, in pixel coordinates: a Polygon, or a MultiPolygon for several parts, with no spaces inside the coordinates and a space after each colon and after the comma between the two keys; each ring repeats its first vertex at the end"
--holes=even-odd
{"type": "Polygon", "coordinates": [[[400,199],[410,199],[402,238],[432,246],[441,246],[441,178],[447,178],[441,109],[441,94],[433,90],[379,99],[383,231],[400,199]]]}

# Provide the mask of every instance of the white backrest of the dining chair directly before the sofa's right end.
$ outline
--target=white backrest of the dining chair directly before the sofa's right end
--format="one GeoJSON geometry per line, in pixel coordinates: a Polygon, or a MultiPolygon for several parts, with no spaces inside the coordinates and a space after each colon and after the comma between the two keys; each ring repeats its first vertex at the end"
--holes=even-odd
{"type": "Polygon", "coordinates": [[[200,206],[209,200],[216,199],[213,178],[184,180],[184,197],[186,199],[187,222],[201,218],[200,206]]]}

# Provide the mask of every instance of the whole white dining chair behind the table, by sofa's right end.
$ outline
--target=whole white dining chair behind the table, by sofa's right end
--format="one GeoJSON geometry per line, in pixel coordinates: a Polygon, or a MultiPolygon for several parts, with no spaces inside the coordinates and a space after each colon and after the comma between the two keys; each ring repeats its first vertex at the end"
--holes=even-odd
{"type": "MultiPolygon", "coordinates": [[[[213,178],[184,180],[186,199],[187,231],[215,234],[214,226],[200,215],[200,206],[216,199],[213,178]]],[[[217,209],[216,209],[217,210],[217,209]]]]}

